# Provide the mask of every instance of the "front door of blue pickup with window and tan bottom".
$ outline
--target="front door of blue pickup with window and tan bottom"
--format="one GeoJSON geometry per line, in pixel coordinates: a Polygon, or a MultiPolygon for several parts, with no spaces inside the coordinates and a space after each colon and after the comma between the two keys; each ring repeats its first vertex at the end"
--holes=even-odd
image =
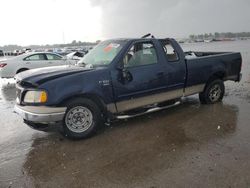
{"type": "Polygon", "coordinates": [[[156,50],[156,40],[133,43],[124,55],[120,70],[111,72],[118,112],[162,100],[167,89],[167,70],[156,50]]]}

